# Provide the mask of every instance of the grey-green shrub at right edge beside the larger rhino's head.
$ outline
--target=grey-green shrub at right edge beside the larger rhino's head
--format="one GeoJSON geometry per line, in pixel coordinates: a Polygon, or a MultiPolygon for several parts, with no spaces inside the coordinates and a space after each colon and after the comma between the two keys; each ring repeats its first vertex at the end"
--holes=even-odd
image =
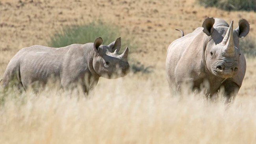
{"type": "Polygon", "coordinates": [[[253,37],[245,37],[240,39],[239,47],[243,53],[249,57],[256,56],[256,42],[253,37]]]}

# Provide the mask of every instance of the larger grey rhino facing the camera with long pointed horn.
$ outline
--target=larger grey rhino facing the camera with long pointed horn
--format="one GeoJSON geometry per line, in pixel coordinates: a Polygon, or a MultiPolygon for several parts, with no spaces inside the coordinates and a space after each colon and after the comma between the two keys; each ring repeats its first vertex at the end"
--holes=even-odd
{"type": "Polygon", "coordinates": [[[192,83],[202,90],[207,81],[206,94],[212,96],[224,87],[226,102],[236,96],[245,76],[246,61],[239,49],[239,38],[250,30],[245,19],[233,30],[219,18],[206,18],[202,27],[173,41],[167,50],[166,73],[169,87],[180,91],[182,84],[192,83]]]}

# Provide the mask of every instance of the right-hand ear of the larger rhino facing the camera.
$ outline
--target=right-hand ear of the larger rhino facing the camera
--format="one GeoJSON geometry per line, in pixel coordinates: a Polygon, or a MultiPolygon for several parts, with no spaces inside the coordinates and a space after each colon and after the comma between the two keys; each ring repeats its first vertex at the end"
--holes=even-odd
{"type": "Polygon", "coordinates": [[[236,33],[238,37],[244,38],[250,30],[250,24],[245,19],[240,19],[238,23],[238,27],[236,28],[236,33]]]}

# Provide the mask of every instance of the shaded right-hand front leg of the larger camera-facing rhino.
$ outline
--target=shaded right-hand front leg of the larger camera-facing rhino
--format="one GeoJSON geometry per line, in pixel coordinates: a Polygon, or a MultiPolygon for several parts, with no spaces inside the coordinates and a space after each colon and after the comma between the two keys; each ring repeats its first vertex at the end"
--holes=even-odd
{"type": "Polygon", "coordinates": [[[222,86],[224,86],[224,96],[226,98],[225,103],[230,103],[234,101],[236,95],[240,89],[240,87],[231,80],[226,80],[223,82],[222,86]]]}

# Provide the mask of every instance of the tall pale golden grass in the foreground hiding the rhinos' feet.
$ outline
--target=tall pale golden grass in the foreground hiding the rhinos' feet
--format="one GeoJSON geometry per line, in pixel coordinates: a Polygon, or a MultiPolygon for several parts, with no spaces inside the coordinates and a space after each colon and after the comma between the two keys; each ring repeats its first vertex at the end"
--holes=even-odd
{"type": "Polygon", "coordinates": [[[171,94],[164,70],[102,78],[87,97],[11,91],[1,95],[0,143],[255,143],[255,90],[245,91],[230,106],[171,94]]]}

